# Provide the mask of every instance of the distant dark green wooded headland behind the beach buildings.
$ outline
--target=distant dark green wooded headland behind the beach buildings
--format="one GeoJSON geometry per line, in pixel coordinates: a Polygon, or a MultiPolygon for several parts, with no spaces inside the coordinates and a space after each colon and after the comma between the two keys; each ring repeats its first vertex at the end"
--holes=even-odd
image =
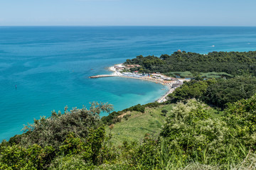
{"type": "MultiPolygon", "coordinates": [[[[140,72],[225,72],[232,75],[256,75],[256,51],[253,52],[209,52],[201,55],[195,52],[174,52],[172,55],[161,57],[142,55],[124,64],[139,64],[142,67],[134,68],[140,72]]],[[[227,75],[224,74],[226,77],[227,75]]]]}

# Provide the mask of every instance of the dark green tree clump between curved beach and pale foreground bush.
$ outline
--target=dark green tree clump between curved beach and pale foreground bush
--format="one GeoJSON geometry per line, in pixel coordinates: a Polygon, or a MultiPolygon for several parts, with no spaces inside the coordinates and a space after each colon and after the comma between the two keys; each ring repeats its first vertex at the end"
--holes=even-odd
{"type": "Polygon", "coordinates": [[[197,98],[210,105],[225,108],[227,103],[250,98],[256,93],[256,79],[236,77],[233,79],[192,80],[178,87],[169,95],[169,102],[197,98]]]}

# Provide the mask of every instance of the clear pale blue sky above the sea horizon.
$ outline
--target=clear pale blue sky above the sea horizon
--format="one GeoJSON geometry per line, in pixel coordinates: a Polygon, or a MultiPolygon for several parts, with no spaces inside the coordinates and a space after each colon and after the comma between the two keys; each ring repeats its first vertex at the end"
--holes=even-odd
{"type": "Polygon", "coordinates": [[[255,0],[1,0],[0,26],[256,26],[255,0]]]}

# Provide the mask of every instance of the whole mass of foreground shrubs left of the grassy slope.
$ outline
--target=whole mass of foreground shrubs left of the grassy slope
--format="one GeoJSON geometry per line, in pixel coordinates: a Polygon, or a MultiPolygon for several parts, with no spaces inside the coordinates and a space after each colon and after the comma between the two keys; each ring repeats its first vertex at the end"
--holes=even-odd
{"type": "Polygon", "coordinates": [[[25,126],[25,133],[1,143],[0,169],[55,169],[62,159],[70,164],[72,159],[78,160],[82,164],[76,168],[102,164],[112,157],[104,147],[107,138],[99,116],[102,111],[109,113],[112,105],[92,103],[90,110],[65,108],[63,114],[53,112],[49,118],[34,120],[25,126]]]}

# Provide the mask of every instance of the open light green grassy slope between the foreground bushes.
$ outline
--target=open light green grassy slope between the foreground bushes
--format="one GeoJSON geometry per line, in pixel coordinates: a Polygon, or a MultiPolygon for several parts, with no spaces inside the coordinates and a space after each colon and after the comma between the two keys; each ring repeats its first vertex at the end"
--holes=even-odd
{"type": "MultiPolygon", "coordinates": [[[[122,119],[121,123],[115,123],[111,130],[112,142],[120,145],[124,140],[141,142],[146,133],[159,135],[162,125],[165,123],[166,116],[161,115],[161,111],[166,109],[171,111],[174,105],[159,106],[157,108],[146,108],[145,113],[137,111],[129,112],[131,116],[128,120],[122,119]]],[[[107,127],[107,133],[110,129],[107,127]]]]}

